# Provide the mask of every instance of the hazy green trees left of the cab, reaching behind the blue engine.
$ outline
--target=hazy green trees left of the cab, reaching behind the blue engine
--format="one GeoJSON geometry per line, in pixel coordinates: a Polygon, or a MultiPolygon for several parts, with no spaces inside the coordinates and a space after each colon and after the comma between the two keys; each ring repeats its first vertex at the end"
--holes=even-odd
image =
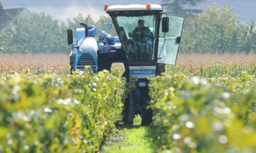
{"type": "MultiPolygon", "coordinates": [[[[51,15],[31,13],[31,17],[15,18],[4,31],[0,32],[0,53],[68,53],[67,29],[76,31],[80,23],[95,25],[99,31],[104,30],[104,23],[111,23],[111,18],[101,15],[95,22],[91,15],[84,17],[79,13],[67,22],[54,20],[51,15]]],[[[74,33],[76,35],[76,33],[74,33]]],[[[110,32],[116,36],[115,27],[110,32]]]]}

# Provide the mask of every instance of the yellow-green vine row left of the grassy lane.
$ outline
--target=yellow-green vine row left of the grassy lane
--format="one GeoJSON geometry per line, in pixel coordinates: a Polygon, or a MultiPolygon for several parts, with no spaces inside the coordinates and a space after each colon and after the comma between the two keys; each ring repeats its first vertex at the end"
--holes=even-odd
{"type": "Polygon", "coordinates": [[[108,71],[2,76],[0,152],[96,152],[122,112],[124,80],[108,71]]]}

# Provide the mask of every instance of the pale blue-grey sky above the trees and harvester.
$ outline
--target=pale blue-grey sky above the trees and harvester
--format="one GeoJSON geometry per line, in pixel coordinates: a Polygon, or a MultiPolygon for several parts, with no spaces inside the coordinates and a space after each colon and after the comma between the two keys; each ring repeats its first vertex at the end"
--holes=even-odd
{"type": "MultiPolygon", "coordinates": [[[[78,13],[92,15],[97,20],[100,15],[106,15],[103,10],[105,3],[109,4],[161,4],[161,0],[0,0],[4,8],[28,8],[29,11],[45,11],[58,20],[76,17],[78,13]]],[[[222,6],[234,6],[234,14],[240,14],[240,22],[256,20],[256,0],[206,0],[193,8],[205,10],[214,1],[222,6]]]]}

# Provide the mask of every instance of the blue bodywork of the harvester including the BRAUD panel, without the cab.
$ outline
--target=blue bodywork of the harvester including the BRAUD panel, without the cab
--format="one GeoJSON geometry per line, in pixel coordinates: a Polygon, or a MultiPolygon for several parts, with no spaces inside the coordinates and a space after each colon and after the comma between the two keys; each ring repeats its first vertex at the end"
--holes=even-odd
{"type": "Polygon", "coordinates": [[[118,36],[111,36],[112,24],[104,24],[104,31],[99,32],[93,25],[88,26],[88,36],[84,28],[76,29],[76,41],[72,45],[70,53],[70,65],[72,70],[84,70],[84,66],[90,66],[94,73],[103,69],[111,70],[115,62],[122,62],[125,66],[125,73],[128,81],[135,79],[136,88],[133,91],[135,113],[141,114],[143,106],[139,105],[143,91],[148,90],[149,81],[147,78],[156,76],[156,66],[129,66],[127,55],[122,50],[122,43],[118,36]],[[108,29],[108,31],[107,31],[108,29]],[[95,37],[99,36],[99,40],[95,37]]]}

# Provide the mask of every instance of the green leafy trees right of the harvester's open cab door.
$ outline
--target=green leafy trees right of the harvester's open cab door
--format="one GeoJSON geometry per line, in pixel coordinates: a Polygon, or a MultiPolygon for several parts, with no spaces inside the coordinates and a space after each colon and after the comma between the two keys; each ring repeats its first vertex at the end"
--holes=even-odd
{"type": "Polygon", "coordinates": [[[216,3],[195,16],[188,16],[182,33],[181,52],[220,53],[255,52],[255,22],[240,24],[234,8],[216,3]]]}

